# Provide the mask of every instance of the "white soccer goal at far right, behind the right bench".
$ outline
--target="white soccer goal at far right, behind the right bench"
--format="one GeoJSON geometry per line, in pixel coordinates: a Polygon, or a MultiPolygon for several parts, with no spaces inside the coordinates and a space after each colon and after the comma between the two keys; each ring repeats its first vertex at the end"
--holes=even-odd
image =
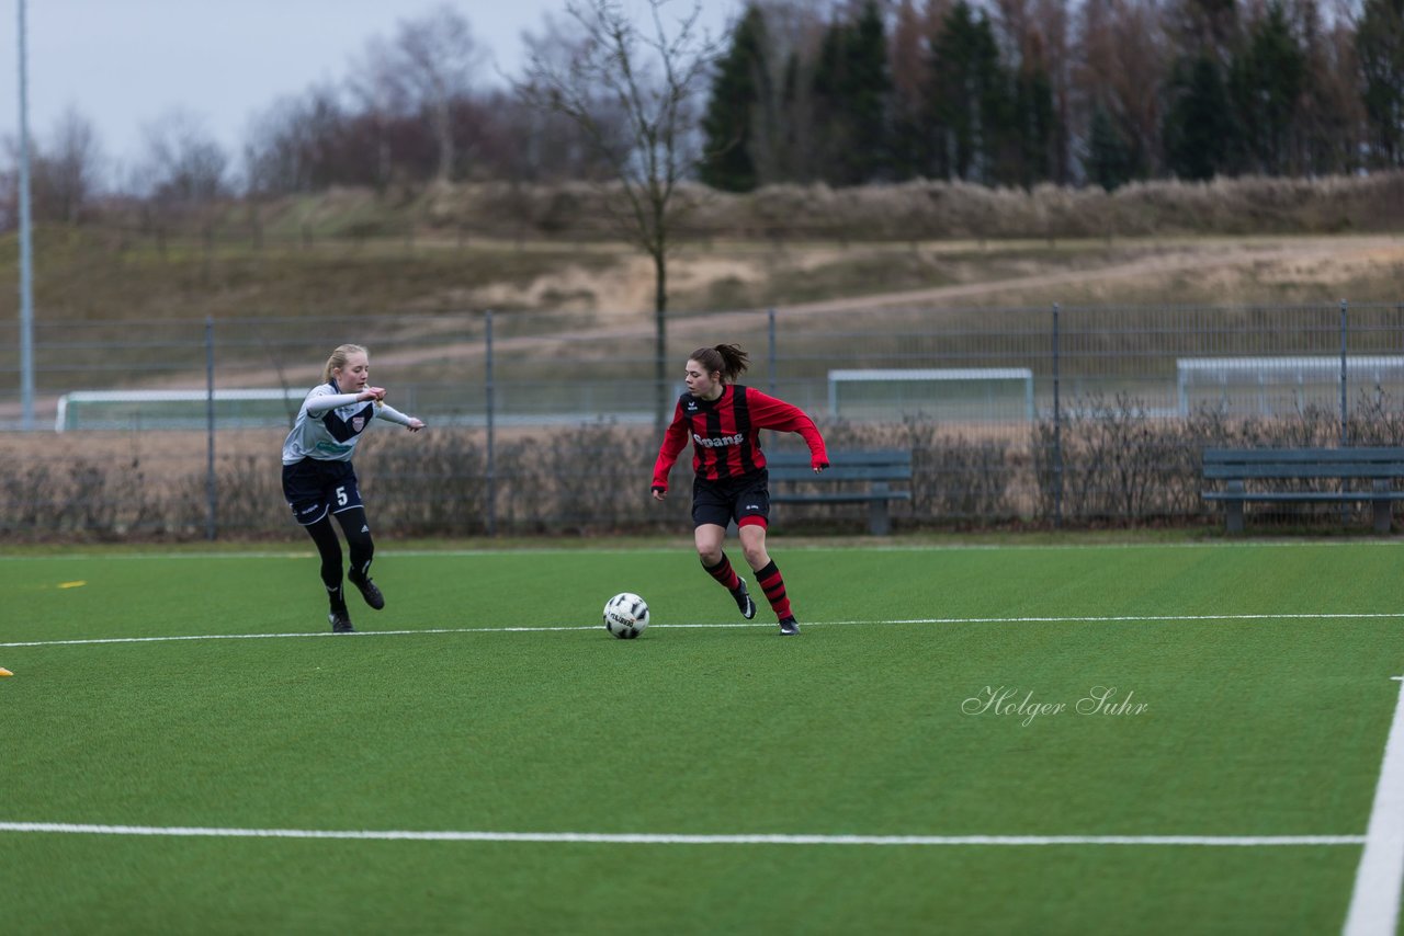
{"type": "MultiPolygon", "coordinates": [[[[1404,356],[1352,355],[1345,359],[1346,389],[1404,387],[1404,356]]],[[[1307,406],[1341,403],[1339,355],[1299,358],[1179,358],[1175,361],[1179,414],[1198,406],[1237,415],[1299,413],[1307,406]]]]}

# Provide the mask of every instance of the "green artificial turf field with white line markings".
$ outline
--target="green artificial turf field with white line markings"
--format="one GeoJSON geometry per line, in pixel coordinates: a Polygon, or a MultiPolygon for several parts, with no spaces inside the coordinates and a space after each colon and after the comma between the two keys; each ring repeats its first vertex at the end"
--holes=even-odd
{"type": "Polygon", "coordinates": [[[11,550],[0,929],[1339,932],[1398,546],[772,554],[796,639],[687,544],[382,546],[355,636],[306,553],[11,550]]]}

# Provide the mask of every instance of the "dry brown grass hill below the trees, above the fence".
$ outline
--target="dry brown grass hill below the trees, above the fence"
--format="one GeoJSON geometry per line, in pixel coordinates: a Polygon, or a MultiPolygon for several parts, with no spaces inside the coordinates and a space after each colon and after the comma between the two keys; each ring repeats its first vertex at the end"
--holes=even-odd
{"type": "MultiPolygon", "coordinates": [[[[769,306],[1299,303],[1404,299],[1404,173],[1317,181],[984,189],[699,188],[670,260],[680,313],[769,306]]],[[[458,185],[331,191],[41,225],[45,321],[487,309],[647,319],[651,264],[618,192],[458,185]]],[[[17,251],[0,246],[0,317],[17,251]]]]}

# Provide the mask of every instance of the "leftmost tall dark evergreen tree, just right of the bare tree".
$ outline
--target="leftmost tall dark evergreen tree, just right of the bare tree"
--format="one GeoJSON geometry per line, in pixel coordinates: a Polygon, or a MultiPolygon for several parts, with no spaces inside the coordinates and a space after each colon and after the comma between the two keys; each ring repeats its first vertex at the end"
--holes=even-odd
{"type": "Polygon", "coordinates": [[[750,6],[731,34],[730,51],[717,62],[712,95],[702,116],[706,136],[699,178],[727,192],[748,192],[760,182],[758,131],[769,100],[765,15],[750,6]]]}

